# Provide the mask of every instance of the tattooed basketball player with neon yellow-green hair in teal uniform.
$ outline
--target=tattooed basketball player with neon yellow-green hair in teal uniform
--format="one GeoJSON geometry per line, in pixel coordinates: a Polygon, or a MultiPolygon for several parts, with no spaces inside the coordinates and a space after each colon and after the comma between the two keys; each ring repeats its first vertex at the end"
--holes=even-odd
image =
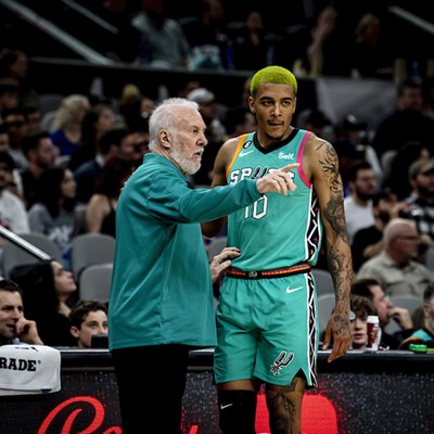
{"type": "MultiPolygon", "coordinates": [[[[322,348],[333,339],[332,361],[350,344],[352,255],[337,157],[329,142],[292,127],[296,93],[290,71],[269,66],[257,72],[248,98],[257,131],[228,140],[214,168],[212,191],[299,163],[292,171],[294,192],[263,194],[228,217],[228,245],[240,248],[241,256],[226,272],[217,310],[214,372],[225,434],[255,432],[260,382],[266,383],[271,432],[301,431],[304,391],[317,386],[318,319],[310,266],[323,230],[336,303],[322,348]]],[[[204,234],[215,235],[224,224],[204,224],[204,234]]]]}

